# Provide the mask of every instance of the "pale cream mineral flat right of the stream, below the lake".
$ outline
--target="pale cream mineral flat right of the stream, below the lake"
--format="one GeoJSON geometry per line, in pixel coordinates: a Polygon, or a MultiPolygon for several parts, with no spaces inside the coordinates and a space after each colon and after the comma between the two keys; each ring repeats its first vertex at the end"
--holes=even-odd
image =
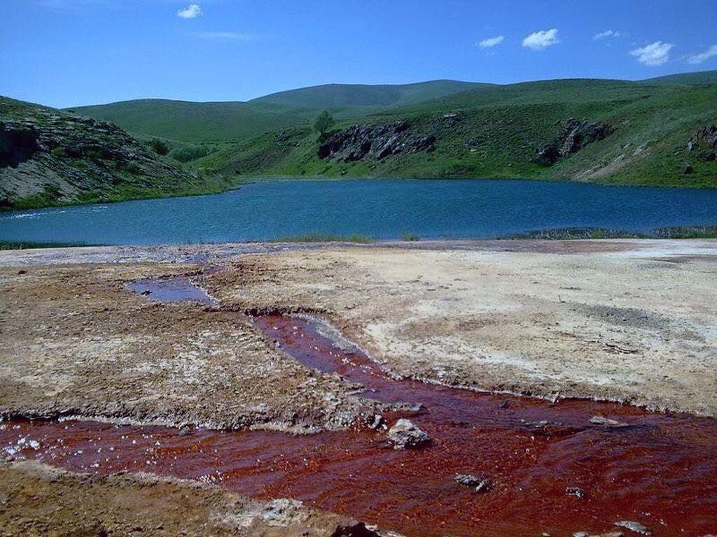
{"type": "Polygon", "coordinates": [[[242,256],[204,284],[318,311],[396,374],[717,415],[717,241],[530,243],[242,256]]]}

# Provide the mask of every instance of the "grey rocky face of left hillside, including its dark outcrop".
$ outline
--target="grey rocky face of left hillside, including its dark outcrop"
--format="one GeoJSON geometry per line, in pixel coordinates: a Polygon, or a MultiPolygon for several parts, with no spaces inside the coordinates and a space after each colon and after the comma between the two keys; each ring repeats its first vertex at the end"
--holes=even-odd
{"type": "Polygon", "coordinates": [[[198,180],[159,160],[144,144],[111,123],[60,110],[0,99],[0,204],[42,196],[70,201],[88,192],[171,191],[198,180]]]}

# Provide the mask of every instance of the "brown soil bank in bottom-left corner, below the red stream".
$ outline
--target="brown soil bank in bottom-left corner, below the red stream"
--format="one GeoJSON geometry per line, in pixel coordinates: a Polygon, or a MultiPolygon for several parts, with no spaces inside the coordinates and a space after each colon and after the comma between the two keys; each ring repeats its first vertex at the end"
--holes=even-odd
{"type": "Polygon", "coordinates": [[[148,473],[101,477],[0,462],[1,536],[326,537],[355,525],[295,500],[260,502],[148,473]]]}

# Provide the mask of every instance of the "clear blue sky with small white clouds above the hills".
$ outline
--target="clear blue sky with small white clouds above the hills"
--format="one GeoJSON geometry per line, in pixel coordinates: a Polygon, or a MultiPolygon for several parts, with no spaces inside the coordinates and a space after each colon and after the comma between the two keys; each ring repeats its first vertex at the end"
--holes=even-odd
{"type": "Polygon", "coordinates": [[[702,69],[717,0],[0,0],[0,95],[59,107],[702,69]]]}

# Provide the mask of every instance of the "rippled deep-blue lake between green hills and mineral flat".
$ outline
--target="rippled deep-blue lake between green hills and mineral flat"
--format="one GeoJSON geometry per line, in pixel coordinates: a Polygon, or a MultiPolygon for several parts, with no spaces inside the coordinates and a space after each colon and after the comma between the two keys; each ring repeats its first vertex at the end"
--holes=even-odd
{"type": "Polygon", "coordinates": [[[0,239],[100,244],[260,241],[411,231],[422,238],[546,228],[717,224],[717,190],[528,180],[277,181],[217,195],[0,213],[0,239]]]}

